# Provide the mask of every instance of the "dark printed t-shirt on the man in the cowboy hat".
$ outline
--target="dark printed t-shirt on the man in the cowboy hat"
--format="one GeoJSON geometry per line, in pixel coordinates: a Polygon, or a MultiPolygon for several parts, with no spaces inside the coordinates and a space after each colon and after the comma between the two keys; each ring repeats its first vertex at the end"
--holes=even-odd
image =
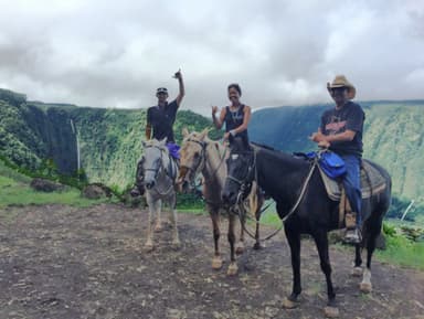
{"type": "Polygon", "coordinates": [[[361,106],[349,100],[342,108],[331,108],[326,110],[321,116],[321,131],[324,135],[335,135],[353,130],[353,140],[351,141],[332,141],[330,150],[339,155],[357,155],[362,156],[362,131],[365,114],[361,106]]]}

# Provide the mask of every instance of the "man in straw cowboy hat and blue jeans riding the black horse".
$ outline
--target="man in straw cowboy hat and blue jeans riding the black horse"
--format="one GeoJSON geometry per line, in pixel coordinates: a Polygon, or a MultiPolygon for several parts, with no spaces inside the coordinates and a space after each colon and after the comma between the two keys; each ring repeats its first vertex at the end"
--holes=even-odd
{"type": "Polygon", "coordinates": [[[347,173],[343,187],[352,212],[356,213],[354,228],[347,228],[344,240],[349,243],[361,242],[361,185],[360,167],[362,158],[362,131],[365,115],[359,104],[353,103],[356,88],[344,75],[337,75],[327,89],[336,103],[336,107],[326,110],[321,116],[321,125],[311,139],[320,147],[339,155],[343,160],[347,173]]]}

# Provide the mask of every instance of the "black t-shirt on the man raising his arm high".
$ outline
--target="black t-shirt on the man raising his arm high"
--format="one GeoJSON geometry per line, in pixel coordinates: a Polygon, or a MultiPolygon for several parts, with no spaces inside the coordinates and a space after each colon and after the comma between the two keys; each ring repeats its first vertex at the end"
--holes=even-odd
{"type": "Polygon", "coordinates": [[[165,107],[151,106],[147,110],[147,123],[153,129],[152,138],[161,140],[167,138],[168,142],[176,142],[173,138],[173,123],[178,110],[177,99],[167,104],[165,107]]]}

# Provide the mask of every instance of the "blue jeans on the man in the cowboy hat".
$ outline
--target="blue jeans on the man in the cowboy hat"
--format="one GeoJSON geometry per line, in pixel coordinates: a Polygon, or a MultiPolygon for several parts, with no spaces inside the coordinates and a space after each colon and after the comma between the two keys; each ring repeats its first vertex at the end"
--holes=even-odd
{"type": "Polygon", "coordinates": [[[346,195],[349,199],[352,212],[357,213],[357,226],[362,224],[362,195],[361,195],[361,158],[359,156],[340,156],[346,166],[346,176],[343,177],[343,187],[346,195]]]}

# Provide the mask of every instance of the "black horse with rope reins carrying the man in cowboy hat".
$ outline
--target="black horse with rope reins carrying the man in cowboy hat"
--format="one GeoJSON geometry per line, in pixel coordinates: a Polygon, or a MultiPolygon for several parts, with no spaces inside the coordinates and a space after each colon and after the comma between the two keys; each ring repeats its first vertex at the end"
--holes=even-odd
{"type": "MultiPolygon", "coordinates": [[[[371,163],[370,161],[368,161],[371,163]]],[[[381,232],[382,221],[391,202],[391,178],[375,163],[371,163],[383,177],[385,189],[362,200],[363,243],[367,247],[367,268],[360,285],[364,293],[371,290],[371,258],[375,240],[381,232]]],[[[292,295],[285,300],[285,307],[295,307],[300,287],[300,234],[310,234],[318,248],[320,266],[326,275],[328,306],[335,308],[336,295],[331,283],[331,265],[328,254],[327,232],[338,228],[339,203],[328,198],[319,171],[311,171],[309,162],[290,155],[266,148],[251,148],[243,140],[235,138],[227,162],[229,178],[223,191],[224,201],[235,204],[241,190],[256,179],[258,185],[277,204],[279,217],[285,221],[285,233],[292,252],[294,274],[292,295]],[[310,177],[309,182],[307,177],[310,177]],[[285,219],[287,217],[287,219],[285,219]],[[284,220],[285,219],[285,220],[284,220]]],[[[356,245],[354,267],[361,267],[361,247],[356,245]]],[[[333,313],[333,312],[332,312],[333,313]]]]}

